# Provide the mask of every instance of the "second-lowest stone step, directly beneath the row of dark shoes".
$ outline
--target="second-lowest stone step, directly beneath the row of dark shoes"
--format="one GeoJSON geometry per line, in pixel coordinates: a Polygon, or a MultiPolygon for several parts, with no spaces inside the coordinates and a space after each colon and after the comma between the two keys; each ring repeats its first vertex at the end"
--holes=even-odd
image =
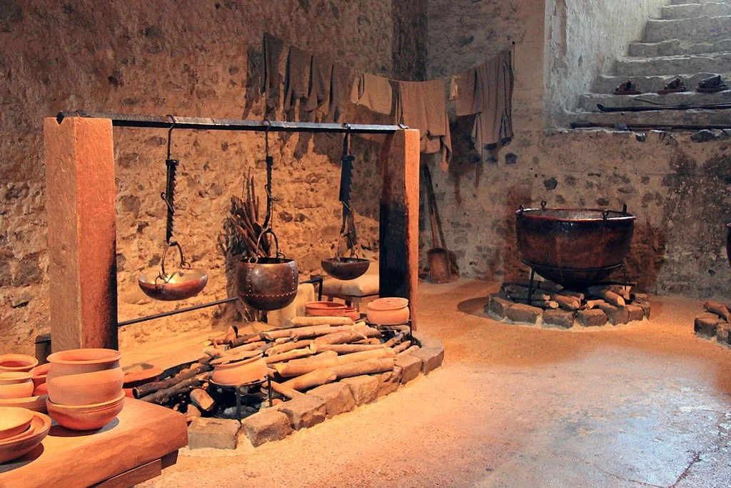
{"type": "MultiPolygon", "coordinates": [[[[669,93],[659,95],[656,93],[645,93],[641,95],[607,95],[587,93],[579,97],[579,108],[587,112],[596,111],[596,104],[600,103],[606,107],[652,107],[652,103],[664,105],[707,105],[711,103],[731,103],[731,90],[719,91],[718,93],[699,93],[697,91],[684,91],[682,93],[669,93]]],[[[730,121],[731,122],[731,121],[730,121]]]]}

